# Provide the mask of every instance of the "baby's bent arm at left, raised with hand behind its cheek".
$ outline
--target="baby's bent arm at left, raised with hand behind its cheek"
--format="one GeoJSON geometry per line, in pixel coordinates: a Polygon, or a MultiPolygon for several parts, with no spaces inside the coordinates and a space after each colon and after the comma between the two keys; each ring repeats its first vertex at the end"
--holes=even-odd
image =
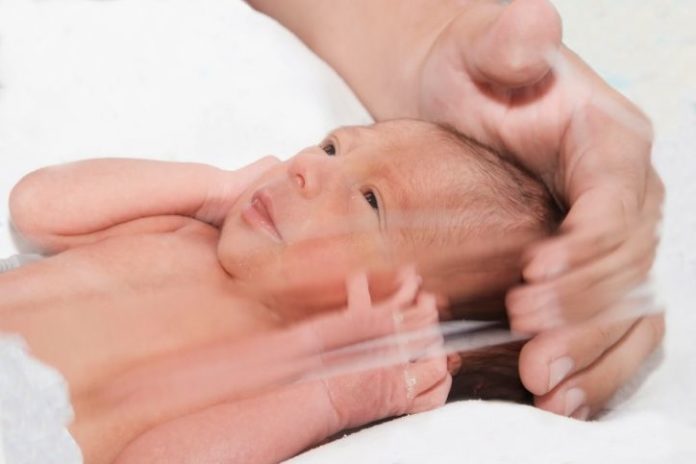
{"type": "Polygon", "coordinates": [[[175,230],[191,218],[217,226],[245,186],[272,163],[265,158],[240,171],[134,159],[48,167],[13,189],[12,222],[48,252],[117,234],[175,230]]]}

